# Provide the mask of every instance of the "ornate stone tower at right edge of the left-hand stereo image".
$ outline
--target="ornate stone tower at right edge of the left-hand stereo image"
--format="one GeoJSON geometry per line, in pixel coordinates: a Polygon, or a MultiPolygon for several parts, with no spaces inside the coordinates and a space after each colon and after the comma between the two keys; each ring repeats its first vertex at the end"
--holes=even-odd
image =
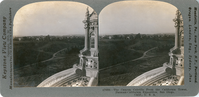
{"type": "Polygon", "coordinates": [[[84,71],[88,77],[97,78],[99,62],[98,62],[98,16],[95,11],[85,15],[84,29],[85,29],[85,43],[84,49],[80,51],[80,63],[78,67],[84,71]]]}

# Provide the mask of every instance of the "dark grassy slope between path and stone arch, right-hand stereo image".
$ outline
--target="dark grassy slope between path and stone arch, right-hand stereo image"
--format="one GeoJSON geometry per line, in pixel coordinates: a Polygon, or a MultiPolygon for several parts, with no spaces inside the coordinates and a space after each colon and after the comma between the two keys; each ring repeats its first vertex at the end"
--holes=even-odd
{"type": "Polygon", "coordinates": [[[153,58],[137,60],[101,71],[99,76],[100,86],[125,86],[142,73],[161,67],[163,63],[168,61],[168,54],[163,52],[161,56],[157,54],[153,58]]]}

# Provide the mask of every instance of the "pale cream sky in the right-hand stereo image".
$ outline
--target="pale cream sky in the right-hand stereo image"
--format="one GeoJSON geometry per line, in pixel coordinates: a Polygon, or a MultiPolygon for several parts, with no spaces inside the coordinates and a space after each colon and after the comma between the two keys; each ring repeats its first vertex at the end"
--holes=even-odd
{"type": "Polygon", "coordinates": [[[99,15],[99,33],[174,33],[177,8],[160,1],[121,1],[106,6],[99,15]]]}

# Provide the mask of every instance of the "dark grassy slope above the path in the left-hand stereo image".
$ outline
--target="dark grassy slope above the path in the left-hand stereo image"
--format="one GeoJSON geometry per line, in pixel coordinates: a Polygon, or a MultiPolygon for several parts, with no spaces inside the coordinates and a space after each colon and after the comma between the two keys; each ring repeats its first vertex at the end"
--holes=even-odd
{"type": "MultiPolygon", "coordinates": [[[[52,57],[52,55],[64,48],[71,49],[78,43],[54,42],[32,42],[14,41],[14,66],[15,69],[25,65],[41,62],[52,57]]],[[[81,46],[82,47],[82,46],[81,46]]]]}

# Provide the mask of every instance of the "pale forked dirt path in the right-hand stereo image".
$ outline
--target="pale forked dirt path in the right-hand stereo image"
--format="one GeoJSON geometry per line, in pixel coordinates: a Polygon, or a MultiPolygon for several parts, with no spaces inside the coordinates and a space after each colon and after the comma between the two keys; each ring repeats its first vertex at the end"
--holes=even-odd
{"type": "Polygon", "coordinates": [[[145,51],[145,52],[143,53],[143,55],[142,55],[141,57],[139,57],[139,58],[136,58],[136,59],[133,59],[133,60],[129,60],[129,61],[126,61],[126,62],[122,62],[122,63],[118,63],[118,64],[116,64],[116,65],[109,66],[109,67],[106,67],[106,68],[102,68],[102,69],[99,69],[99,71],[106,70],[106,69],[109,69],[109,68],[112,68],[112,67],[115,67],[115,66],[119,66],[119,65],[122,65],[122,64],[125,64],[125,63],[128,63],[128,62],[131,62],[131,61],[136,61],[136,60],[140,60],[140,59],[143,59],[143,58],[153,57],[153,56],[147,56],[147,53],[148,53],[149,51],[155,49],[155,48],[157,48],[157,47],[154,47],[154,48],[151,48],[151,49],[145,51]]]}

